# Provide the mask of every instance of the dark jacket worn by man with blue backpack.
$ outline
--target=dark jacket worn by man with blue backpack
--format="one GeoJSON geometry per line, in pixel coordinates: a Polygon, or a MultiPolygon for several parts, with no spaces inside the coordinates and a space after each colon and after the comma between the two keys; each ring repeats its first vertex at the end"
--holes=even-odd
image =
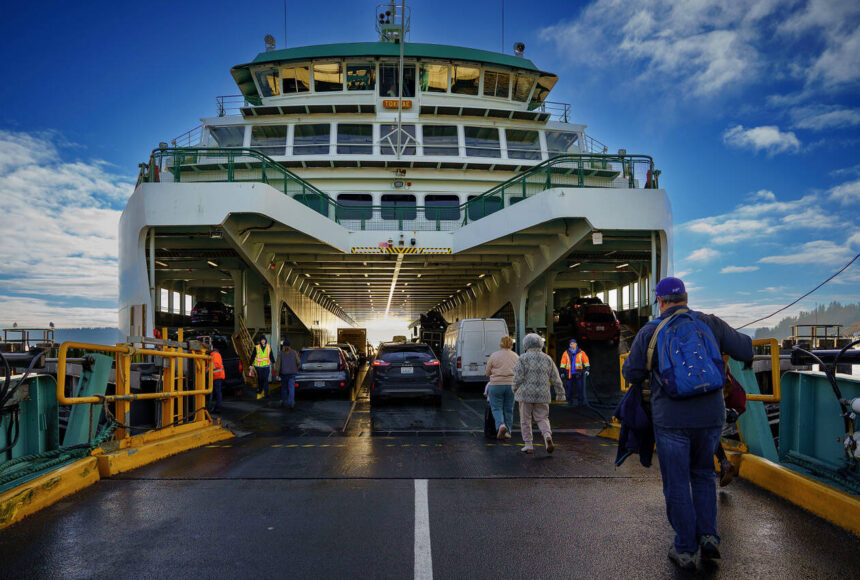
{"type": "MultiPolygon", "coordinates": [[[[671,316],[681,305],[673,306],[660,315],[656,321],[671,316]]],[[[729,355],[735,360],[749,362],[753,359],[752,339],[734,330],[721,319],[713,314],[703,314],[691,310],[690,314],[705,323],[714,333],[714,338],[720,346],[720,352],[729,355]]],[[[641,384],[647,378],[646,358],[648,343],[657,329],[657,324],[652,321],[639,330],[630,354],[624,361],[621,373],[630,384],[641,384]]],[[[657,372],[657,360],[652,365],[652,371],[657,372]]],[[[651,410],[652,421],[658,427],[673,429],[696,428],[696,427],[721,427],[726,420],[726,407],[723,402],[721,390],[690,397],[687,399],[672,399],[662,392],[658,381],[651,377],[651,410]]]]}

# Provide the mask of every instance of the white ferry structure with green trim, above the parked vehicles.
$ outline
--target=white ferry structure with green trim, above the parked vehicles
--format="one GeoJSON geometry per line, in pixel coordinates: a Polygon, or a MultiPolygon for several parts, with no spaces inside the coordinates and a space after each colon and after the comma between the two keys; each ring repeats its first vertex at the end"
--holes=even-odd
{"type": "Polygon", "coordinates": [[[142,164],[122,332],[181,322],[187,296],[232,301],[273,341],[432,309],[551,334],[585,295],[634,326],[650,314],[672,256],[653,160],[572,122],[521,46],[401,43],[402,20],[377,42],[269,46],[231,69],[240,97],[142,164]]]}

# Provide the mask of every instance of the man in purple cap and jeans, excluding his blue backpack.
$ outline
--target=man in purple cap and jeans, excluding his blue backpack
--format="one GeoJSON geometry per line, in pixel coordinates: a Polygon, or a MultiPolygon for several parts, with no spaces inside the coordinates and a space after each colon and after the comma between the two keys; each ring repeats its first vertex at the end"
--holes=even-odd
{"type": "MultiPolygon", "coordinates": [[[[648,379],[650,406],[666,498],[666,515],[675,530],[669,558],[682,569],[697,567],[699,551],[704,558],[719,558],[717,495],[714,450],[726,420],[722,390],[712,390],[687,398],[672,398],[664,392],[659,357],[652,355],[648,373],[648,349],[661,321],[689,314],[713,334],[721,353],[738,361],[753,359],[752,340],[712,314],[687,309],[687,291],[678,278],[664,278],[655,288],[660,317],[642,327],[622,374],[628,383],[642,385],[648,379]],[[692,495],[691,495],[692,491],[692,495]]],[[[704,337],[705,340],[710,337],[704,337]]],[[[671,371],[671,367],[668,369],[671,371]]]]}

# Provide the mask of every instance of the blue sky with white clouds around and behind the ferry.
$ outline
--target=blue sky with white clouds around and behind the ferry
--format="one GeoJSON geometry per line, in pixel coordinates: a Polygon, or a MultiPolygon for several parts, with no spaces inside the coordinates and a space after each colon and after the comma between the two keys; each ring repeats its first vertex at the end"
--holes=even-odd
{"type": "MultiPolygon", "coordinates": [[[[500,50],[502,2],[413,0],[411,40],[500,50]]],[[[694,306],[740,324],[860,252],[860,3],[505,2],[504,49],[611,150],[652,155],[694,306]]],[[[374,39],[376,2],[288,2],[287,44],[374,39]]],[[[137,164],[283,45],[283,4],[13,3],[0,21],[0,325],[116,324],[137,164]]],[[[860,266],[789,311],[860,299],[860,266]]],[[[779,317],[771,320],[776,323],[779,317]]]]}

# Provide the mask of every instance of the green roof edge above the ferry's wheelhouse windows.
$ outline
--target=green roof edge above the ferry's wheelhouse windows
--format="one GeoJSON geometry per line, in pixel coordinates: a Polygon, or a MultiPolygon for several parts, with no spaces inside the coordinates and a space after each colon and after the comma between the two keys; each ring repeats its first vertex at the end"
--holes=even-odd
{"type": "MultiPolygon", "coordinates": [[[[270,52],[261,52],[257,57],[245,64],[234,66],[230,72],[239,85],[242,94],[249,101],[259,104],[260,95],[251,78],[251,66],[266,63],[305,62],[322,58],[377,58],[399,57],[400,44],[395,42],[342,42],[336,44],[316,44],[283,48],[270,52]]],[[[479,64],[497,65],[508,68],[527,70],[545,76],[556,76],[553,73],[541,71],[527,58],[512,56],[501,52],[491,52],[463,46],[448,46],[445,44],[426,44],[422,42],[406,42],[403,44],[403,56],[410,58],[426,58],[434,60],[451,60],[474,62],[479,64]]]]}

